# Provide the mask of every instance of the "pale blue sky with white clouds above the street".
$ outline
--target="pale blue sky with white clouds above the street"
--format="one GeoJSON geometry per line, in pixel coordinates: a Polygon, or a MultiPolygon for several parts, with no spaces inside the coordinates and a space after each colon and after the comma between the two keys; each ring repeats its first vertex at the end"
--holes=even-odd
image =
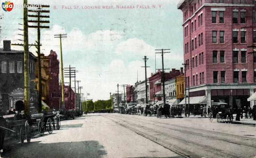
{"type": "MultiPolygon", "coordinates": [[[[38,4],[40,1],[30,1],[38,4]]],[[[2,3],[2,1],[0,1],[2,3]]],[[[22,4],[22,1],[11,1],[22,4]]],[[[79,3],[68,1],[42,1],[50,4],[50,29],[41,31],[41,52],[50,50],[60,54],[59,40],[54,34],[67,33],[63,39],[64,67],[76,67],[77,79],[81,80],[82,92],[88,92],[90,99],[108,99],[109,92],[117,91],[116,84],[131,84],[144,79],[142,58],[147,55],[148,77],[155,72],[155,49],[171,49],[164,54],[165,68],[180,69],[183,62],[182,12],[177,9],[178,1],[89,1],[79,3]],[[74,9],[74,5],[79,9],[74,9]],[[100,6],[101,9],[82,9],[85,6],[100,6]],[[103,5],[113,5],[114,9],[102,9],[103,5]],[[134,9],[117,9],[116,5],[135,6],[134,9]],[[149,9],[137,9],[137,5],[149,9]],[[157,8],[152,8],[156,5],[157,8]],[[161,8],[159,7],[161,5],[161,8]],[[57,9],[54,9],[56,6],[57,9]],[[72,9],[62,9],[62,6],[72,9]]],[[[65,8],[64,7],[64,8],[65,8]]],[[[0,11],[2,31],[0,41],[22,39],[22,9],[11,12],[0,11]]],[[[29,42],[36,40],[36,29],[29,28],[29,42]]],[[[22,49],[13,47],[12,49],[22,49]]],[[[35,52],[31,47],[30,51],[35,52]]],[[[60,59],[60,58],[59,58],[60,59]]],[[[156,55],[156,68],[161,68],[161,56],[156,55]]],[[[68,79],[66,80],[68,81],[68,79]]],[[[65,82],[66,82],[65,81],[65,82]]],[[[74,83],[72,83],[74,84],[74,83]]]]}

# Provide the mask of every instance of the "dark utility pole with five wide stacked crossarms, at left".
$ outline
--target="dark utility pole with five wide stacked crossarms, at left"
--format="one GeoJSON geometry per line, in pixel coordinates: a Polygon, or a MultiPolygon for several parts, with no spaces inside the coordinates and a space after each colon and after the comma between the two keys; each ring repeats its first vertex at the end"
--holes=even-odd
{"type": "Polygon", "coordinates": [[[37,15],[28,15],[28,17],[37,18],[37,20],[28,20],[28,22],[36,23],[36,26],[28,26],[28,28],[37,28],[37,46],[36,46],[36,53],[37,53],[37,60],[38,60],[38,106],[37,111],[38,113],[42,112],[42,76],[41,76],[41,52],[40,52],[40,29],[41,28],[50,28],[49,26],[41,26],[41,23],[50,23],[49,20],[40,20],[40,18],[50,18],[49,16],[40,16],[41,13],[49,13],[50,10],[42,10],[43,7],[49,8],[50,5],[41,5],[42,7],[37,8],[37,10],[28,10],[28,12],[36,12],[37,15]]]}

